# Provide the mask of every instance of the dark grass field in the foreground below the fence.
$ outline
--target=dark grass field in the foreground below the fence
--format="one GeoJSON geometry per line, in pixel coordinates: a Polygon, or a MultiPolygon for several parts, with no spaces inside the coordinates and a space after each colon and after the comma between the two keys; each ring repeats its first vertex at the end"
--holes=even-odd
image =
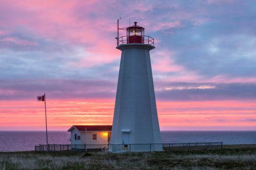
{"type": "Polygon", "coordinates": [[[256,145],[152,153],[0,153],[0,170],[256,170],[256,145]]]}

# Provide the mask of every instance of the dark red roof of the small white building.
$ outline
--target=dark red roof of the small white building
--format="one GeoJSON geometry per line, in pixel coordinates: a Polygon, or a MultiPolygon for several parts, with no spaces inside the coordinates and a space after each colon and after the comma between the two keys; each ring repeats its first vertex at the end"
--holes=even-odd
{"type": "Polygon", "coordinates": [[[112,125],[73,125],[68,132],[71,132],[73,128],[79,131],[111,131],[112,125]]]}

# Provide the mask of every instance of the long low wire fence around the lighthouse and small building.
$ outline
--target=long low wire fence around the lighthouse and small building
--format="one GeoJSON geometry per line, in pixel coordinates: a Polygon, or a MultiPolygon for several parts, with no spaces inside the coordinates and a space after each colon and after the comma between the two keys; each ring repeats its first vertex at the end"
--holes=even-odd
{"type": "Polygon", "coordinates": [[[201,150],[222,149],[222,142],[204,143],[149,143],[149,144],[97,144],[97,145],[71,145],[48,144],[35,145],[36,152],[153,152],[171,150],[201,150]]]}

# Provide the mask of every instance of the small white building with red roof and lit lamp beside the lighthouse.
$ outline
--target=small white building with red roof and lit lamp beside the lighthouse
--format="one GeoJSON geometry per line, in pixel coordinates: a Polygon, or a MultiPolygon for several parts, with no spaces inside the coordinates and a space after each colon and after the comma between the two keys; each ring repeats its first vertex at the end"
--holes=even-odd
{"type": "Polygon", "coordinates": [[[112,126],[109,125],[73,125],[71,132],[71,146],[77,149],[102,149],[110,141],[112,126]]]}

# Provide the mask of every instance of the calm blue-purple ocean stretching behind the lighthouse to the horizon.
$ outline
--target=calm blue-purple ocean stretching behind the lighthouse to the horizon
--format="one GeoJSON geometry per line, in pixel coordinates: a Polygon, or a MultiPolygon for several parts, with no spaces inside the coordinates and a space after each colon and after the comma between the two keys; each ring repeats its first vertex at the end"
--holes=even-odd
{"type": "MultiPolygon", "coordinates": [[[[256,131],[161,131],[163,143],[223,142],[256,144],[256,131]]],[[[70,132],[49,131],[50,144],[70,144],[70,132]]],[[[33,151],[46,143],[44,131],[0,131],[0,152],[33,151]]]]}

